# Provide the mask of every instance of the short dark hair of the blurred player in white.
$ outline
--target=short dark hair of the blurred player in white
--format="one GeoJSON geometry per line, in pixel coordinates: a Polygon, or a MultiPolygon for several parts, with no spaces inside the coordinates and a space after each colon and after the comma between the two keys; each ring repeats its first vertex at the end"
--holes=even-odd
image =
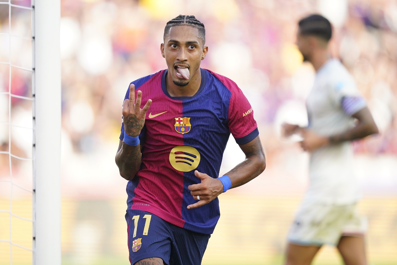
{"type": "Polygon", "coordinates": [[[332,37],[331,23],[322,15],[309,15],[299,21],[299,29],[302,35],[314,35],[325,41],[332,37]]]}

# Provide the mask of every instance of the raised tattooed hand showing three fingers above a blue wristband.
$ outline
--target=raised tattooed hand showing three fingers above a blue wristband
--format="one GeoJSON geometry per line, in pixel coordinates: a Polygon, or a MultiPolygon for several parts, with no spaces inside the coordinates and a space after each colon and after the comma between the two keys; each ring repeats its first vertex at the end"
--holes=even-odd
{"type": "Polygon", "coordinates": [[[131,137],[136,137],[141,133],[145,124],[146,112],[148,111],[152,100],[149,99],[145,106],[141,108],[142,91],[137,92],[137,101],[135,102],[135,85],[129,86],[129,99],[123,103],[123,124],[124,131],[131,137]]]}

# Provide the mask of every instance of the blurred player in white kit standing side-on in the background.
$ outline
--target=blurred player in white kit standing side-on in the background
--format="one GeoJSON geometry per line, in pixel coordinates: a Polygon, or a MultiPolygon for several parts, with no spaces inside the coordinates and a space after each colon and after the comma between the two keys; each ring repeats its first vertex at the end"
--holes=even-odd
{"type": "Polygon", "coordinates": [[[301,133],[301,146],[310,152],[310,186],[288,233],[287,265],[310,264],[324,244],[336,246],[346,265],[366,265],[350,142],[378,128],[353,77],[330,58],[330,39],[331,24],[321,15],[299,21],[297,46],[316,77],[306,101],[308,128],[283,124],[286,136],[301,133]]]}

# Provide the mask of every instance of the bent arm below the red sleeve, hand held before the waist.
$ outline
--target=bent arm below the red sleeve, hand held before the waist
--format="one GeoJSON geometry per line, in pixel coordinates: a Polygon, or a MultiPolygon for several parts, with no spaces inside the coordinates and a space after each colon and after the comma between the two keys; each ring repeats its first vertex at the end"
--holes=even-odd
{"type": "MultiPolygon", "coordinates": [[[[230,178],[230,188],[236,188],[249,182],[259,176],[266,168],[265,153],[259,135],[252,141],[239,146],[245,154],[245,160],[225,174],[230,178]]],[[[187,209],[193,209],[207,204],[224,192],[224,184],[222,184],[219,178],[212,178],[197,170],[195,171],[195,175],[201,179],[201,183],[190,185],[188,188],[195,199],[198,199],[197,196],[200,199],[197,203],[188,205],[187,209]]]]}

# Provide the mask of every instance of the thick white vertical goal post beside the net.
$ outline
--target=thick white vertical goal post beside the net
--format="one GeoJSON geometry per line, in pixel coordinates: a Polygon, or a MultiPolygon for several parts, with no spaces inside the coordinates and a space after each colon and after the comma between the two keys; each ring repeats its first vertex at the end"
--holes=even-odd
{"type": "Polygon", "coordinates": [[[60,0],[33,8],[33,265],[61,265],[60,0]]]}

